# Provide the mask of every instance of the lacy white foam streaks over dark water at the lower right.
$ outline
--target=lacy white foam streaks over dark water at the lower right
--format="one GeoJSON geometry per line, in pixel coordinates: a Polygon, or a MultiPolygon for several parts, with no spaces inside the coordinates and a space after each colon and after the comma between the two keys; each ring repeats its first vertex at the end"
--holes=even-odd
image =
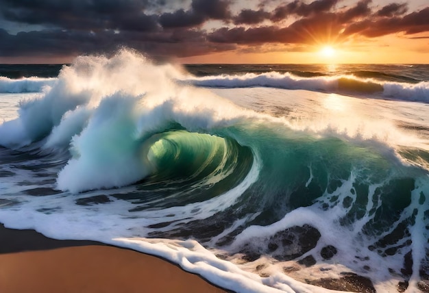
{"type": "MultiPolygon", "coordinates": [[[[346,196],[350,196],[354,199],[353,201],[356,201],[356,193],[350,192],[350,190],[354,189],[353,183],[355,179],[356,178],[352,175],[350,179],[343,181],[343,185],[339,189],[335,190],[332,194],[325,192],[319,199],[326,203],[332,203],[330,199],[332,199],[333,196],[339,196],[338,200],[341,203],[346,196]]],[[[424,186],[427,186],[427,180],[424,186]]],[[[377,186],[369,187],[368,205],[372,204],[376,187],[377,186]]],[[[417,188],[413,193],[414,192],[419,194],[420,190],[417,188]]],[[[418,198],[419,197],[415,196],[415,200],[418,200],[418,198]]],[[[271,225],[263,227],[254,225],[247,227],[242,233],[236,236],[234,242],[227,250],[238,252],[241,251],[246,244],[252,246],[254,251],[264,251],[267,246],[267,240],[271,239],[275,233],[294,226],[302,227],[304,225],[310,225],[320,232],[321,238],[317,242],[315,248],[305,253],[302,257],[312,255],[319,263],[310,268],[300,268],[300,270],[296,272],[291,272],[291,277],[299,281],[312,281],[313,279],[321,278],[336,279],[341,272],[354,272],[374,280],[375,282],[373,285],[377,292],[392,292],[392,290],[395,290],[397,283],[402,281],[402,279],[399,276],[394,277],[391,275],[388,268],[395,268],[399,271],[400,268],[402,268],[403,259],[401,257],[389,259],[389,257],[382,257],[378,255],[376,251],[370,251],[368,249],[373,240],[371,240],[370,237],[365,238],[365,235],[362,234],[362,222],[366,223],[373,218],[374,214],[369,214],[370,209],[367,209],[365,216],[354,222],[351,227],[341,225],[339,219],[343,218],[347,212],[350,211],[351,207],[352,205],[350,205],[349,208],[344,208],[343,205],[339,204],[328,209],[327,212],[323,212],[319,205],[299,207],[287,213],[281,220],[271,225]],[[336,255],[330,260],[322,259],[319,254],[323,246],[327,245],[332,245],[337,249],[336,255]],[[356,248],[356,250],[354,248],[356,248]],[[360,257],[360,259],[367,257],[367,261],[356,262],[356,257],[360,257]],[[365,264],[370,267],[369,271],[363,269],[365,264]]],[[[413,204],[407,207],[402,218],[397,222],[410,216],[415,207],[417,206],[413,204]]],[[[419,208],[419,212],[424,212],[424,209],[421,207],[417,208],[419,208]]],[[[413,234],[413,250],[417,250],[417,252],[413,253],[413,259],[418,259],[418,261],[415,262],[417,265],[413,268],[415,270],[412,279],[415,282],[413,285],[410,285],[410,292],[413,292],[413,288],[416,288],[415,284],[419,281],[419,264],[420,260],[425,256],[424,247],[427,239],[422,237],[422,233],[425,231],[423,227],[424,220],[422,218],[416,220],[421,220],[421,222],[419,225],[413,227],[411,233],[413,234]]],[[[392,229],[394,229],[394,227],[392,229]]],[[[388,233],[389,231],[385,234],[387,235],[388,233]]],[[[380,236],[380,238],[382,238],[382,236],[380,236]]],[[[270,263],[265,261],[262,263],[265,264],[264,270],[267,272],[275,272],[276,270],[282,269],[282,266],[276,266],[275,262],[270,263]]],[[[253,266],[256,266],[256,264],[253,266]]],[[[243,269],[247,267],[252,268],[249,264],[244,264],[240,267],[243,269]]],[[[283,276],[284,275],[280,274],[279,278],[282,279],[283,276]]],[[[301,290],[297,290],[297,292],[301,292],[301,290]]]]}

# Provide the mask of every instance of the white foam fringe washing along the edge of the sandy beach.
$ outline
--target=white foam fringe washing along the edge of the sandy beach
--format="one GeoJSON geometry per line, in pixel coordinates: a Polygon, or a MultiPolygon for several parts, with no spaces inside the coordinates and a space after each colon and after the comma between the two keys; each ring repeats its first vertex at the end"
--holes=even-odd
{"type": "MultiPolygon", "coordinates": [[[[195,240],[164,240],[132,238],[130,228],[148,224],[145,218],[125,212],[130,203],[114,201],[97,207],[82,207],[74,204],[73,196],[43,196],[27,201],[20,206],[3,209],[0,222],[15,229],[36,229],[55,239],[96,240],[106,244],[127,247],[157,255],[179,264],[184,270],[194,272],[223,288],[234,292],[314,292],[315,287],[295,281],[290,277],[260,277],[242,270],[232,262],[221,260],[195,240]],[[57,212],[43,214],[38,209],[56,207],[57,212]],[[118,211],[123,211],[123,214],[118,211]],[[18,212],[19,211],[19,212],[18,212]],[[130,214],[130,216],[127,216],[130,214]],[[127,235],[119,237],[118,235],[127,235]]],[[[134,230],[133,229],[133,230],[134,230]]],[[[140,231],[140,233],[143,231],[140,231]]],[[[317,288],[318,292],[330,292],[317,288]]]]}

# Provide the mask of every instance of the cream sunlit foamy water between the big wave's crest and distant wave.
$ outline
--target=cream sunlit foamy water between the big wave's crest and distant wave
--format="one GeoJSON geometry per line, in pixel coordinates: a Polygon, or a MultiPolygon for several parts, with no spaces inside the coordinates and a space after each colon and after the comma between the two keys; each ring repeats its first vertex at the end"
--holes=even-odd
{"type": "Polygon", "coordinates": [[[404,131],[399,127],[406,124],[429,128],[426,105],[421,103],[275,88],[217,88],[212,92],[241,107],[277,116],[258,116],[266,123],[281,123],[314,136],[364,143],[390,157],[395,157],[392,150],[400,146],[429,149],[429,136],[419,128],[404,131]]]}

